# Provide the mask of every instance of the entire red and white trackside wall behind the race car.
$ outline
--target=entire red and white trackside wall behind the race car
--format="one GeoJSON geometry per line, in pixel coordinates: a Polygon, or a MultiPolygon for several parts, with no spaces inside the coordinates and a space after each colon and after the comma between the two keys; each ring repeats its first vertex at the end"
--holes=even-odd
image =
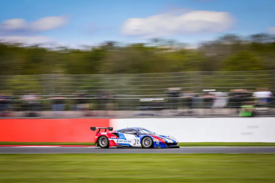
{"type": "Polygon", "coordinates": [[[275,142],[275,118],[9,119],[0,141],[93,142],[91,126],[145,127],[179,142],[275,142]]]}

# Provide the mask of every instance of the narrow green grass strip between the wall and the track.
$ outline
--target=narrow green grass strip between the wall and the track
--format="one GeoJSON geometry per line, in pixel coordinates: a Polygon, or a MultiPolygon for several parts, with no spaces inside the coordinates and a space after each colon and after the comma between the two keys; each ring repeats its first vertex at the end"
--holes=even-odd
{"type": "MultiPolygon", "coordinates": [[[[93,142],[0,142],[0,145],[94,145],[93,142]]],[[[243,142],[198,142],[198,143],[178,143],[181,147],[186,146],[246,146],[246,147],[255,147],[255,146],[275,146],[275,143],[243,143],[243,142]]]]}

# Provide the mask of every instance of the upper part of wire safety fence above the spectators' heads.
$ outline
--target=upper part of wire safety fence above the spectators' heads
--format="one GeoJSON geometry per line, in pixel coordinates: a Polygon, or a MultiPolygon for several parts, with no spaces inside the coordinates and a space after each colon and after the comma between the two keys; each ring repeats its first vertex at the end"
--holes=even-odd
{"type": "Polygon", "coordinates": [[[229,92],[243,88],[254,91],[257,87],[274,87],[275,70],[267,71],[219,71],[180,72],[154,74],[94,74],[94,75],[14,75],[0,76],[2,92],[12,95],[37,95],[62,93],[71,95],[85,90],[90,94],[110,91],[117,95],[163,95],[167,88],[181,88],[182,91],[201,93],[215,89],[229,92]]]}

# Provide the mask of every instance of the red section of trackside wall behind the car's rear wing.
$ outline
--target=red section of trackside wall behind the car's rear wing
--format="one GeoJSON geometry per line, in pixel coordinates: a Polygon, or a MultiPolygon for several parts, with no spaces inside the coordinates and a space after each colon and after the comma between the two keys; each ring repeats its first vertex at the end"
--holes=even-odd
{"type": "MultiPolygon", "coordinates": [[[[90,127],[109,127],[109,119],[0,120],[2,142],[94,142],[90,127]]],[[[102,131],[102,130],[101,130],[102,131]]]]}

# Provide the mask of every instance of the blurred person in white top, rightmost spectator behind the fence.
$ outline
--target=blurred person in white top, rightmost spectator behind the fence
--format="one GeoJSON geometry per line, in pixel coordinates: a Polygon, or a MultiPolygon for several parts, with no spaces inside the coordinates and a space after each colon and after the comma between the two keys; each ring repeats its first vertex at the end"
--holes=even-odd
{"type": "Polygon", "coordinates": [[[268,88],[257,88],[257,91],[253,93],[255,97],[255,106],[269,106],[271,102],[272,92],[268,88]]]}

